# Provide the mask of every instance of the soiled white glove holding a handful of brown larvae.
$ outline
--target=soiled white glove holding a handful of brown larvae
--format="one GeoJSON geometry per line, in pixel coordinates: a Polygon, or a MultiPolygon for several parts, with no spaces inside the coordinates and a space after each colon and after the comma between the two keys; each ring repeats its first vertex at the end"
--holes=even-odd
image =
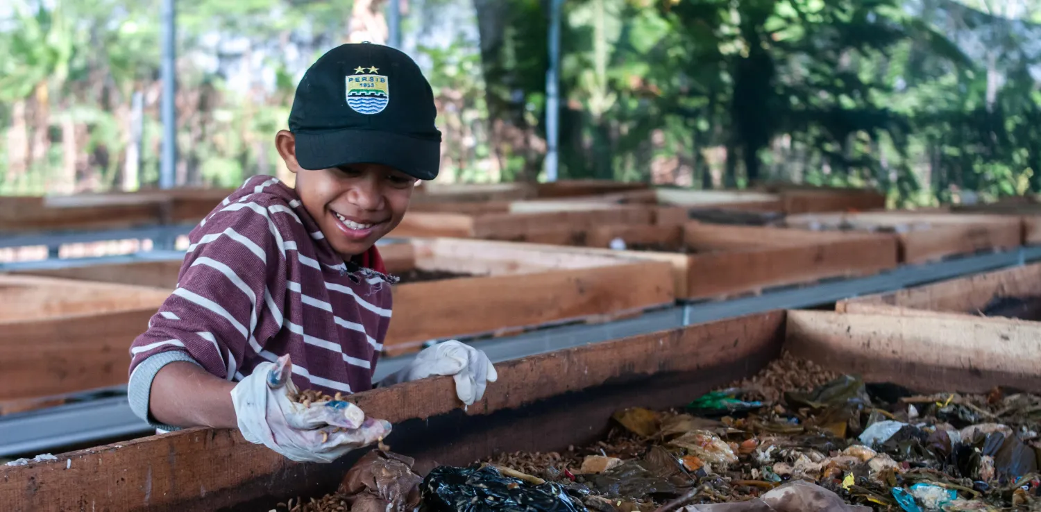
{"type": "Polygon", "coordinates": [[[290,401],[289,394],[297,393],[291,369],[287,355],[277,363],[260,363],[231,390],[238,430],[246,440],[297,462],[332,462],[390,433],[389,423],[365,418],[350,402],[304,406],[290,401]]]}

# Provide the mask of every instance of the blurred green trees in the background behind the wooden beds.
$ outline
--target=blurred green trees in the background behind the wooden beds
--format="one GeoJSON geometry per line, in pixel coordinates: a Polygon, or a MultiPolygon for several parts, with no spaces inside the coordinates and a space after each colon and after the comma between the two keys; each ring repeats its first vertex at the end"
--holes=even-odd
{"type": "MultiPolygon", "coordinates": [[[[0,194],[157,180],[158,0],[0,6],[0,194]]],[[[402,0],[446,181],[536,180],[548,1],[402,0]]],[[[178,183],[284,174],[307,66],[382,42],[380,0],[178,7],[178,183]]],[[[1041,0],[567,0],[561,178],[866,185],[894,204],[1041,191],[1041,0]]]]}

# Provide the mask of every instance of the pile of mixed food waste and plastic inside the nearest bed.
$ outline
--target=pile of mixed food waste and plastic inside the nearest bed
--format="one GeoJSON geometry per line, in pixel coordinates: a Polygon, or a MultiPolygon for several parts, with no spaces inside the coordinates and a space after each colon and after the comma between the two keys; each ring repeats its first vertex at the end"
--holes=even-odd
{"type": "Polygon", "coordinates": [[[606,438],[425,478],[367,454],[295,511],[1041,510],[1041,396],[918,394],[788,355],[683,408],[616,411],[606,438]]]}

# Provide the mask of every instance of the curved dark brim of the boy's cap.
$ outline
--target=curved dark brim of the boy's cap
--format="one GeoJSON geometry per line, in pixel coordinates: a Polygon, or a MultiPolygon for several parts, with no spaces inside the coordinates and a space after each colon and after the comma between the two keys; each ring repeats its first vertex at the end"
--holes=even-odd
{"type": "Polygon", "coordinates": [[[297,162],[305,170],[381,163],[416,179],[432,180],[440,168],[440,140],[357,129],[295,135],[297,162]]]}

